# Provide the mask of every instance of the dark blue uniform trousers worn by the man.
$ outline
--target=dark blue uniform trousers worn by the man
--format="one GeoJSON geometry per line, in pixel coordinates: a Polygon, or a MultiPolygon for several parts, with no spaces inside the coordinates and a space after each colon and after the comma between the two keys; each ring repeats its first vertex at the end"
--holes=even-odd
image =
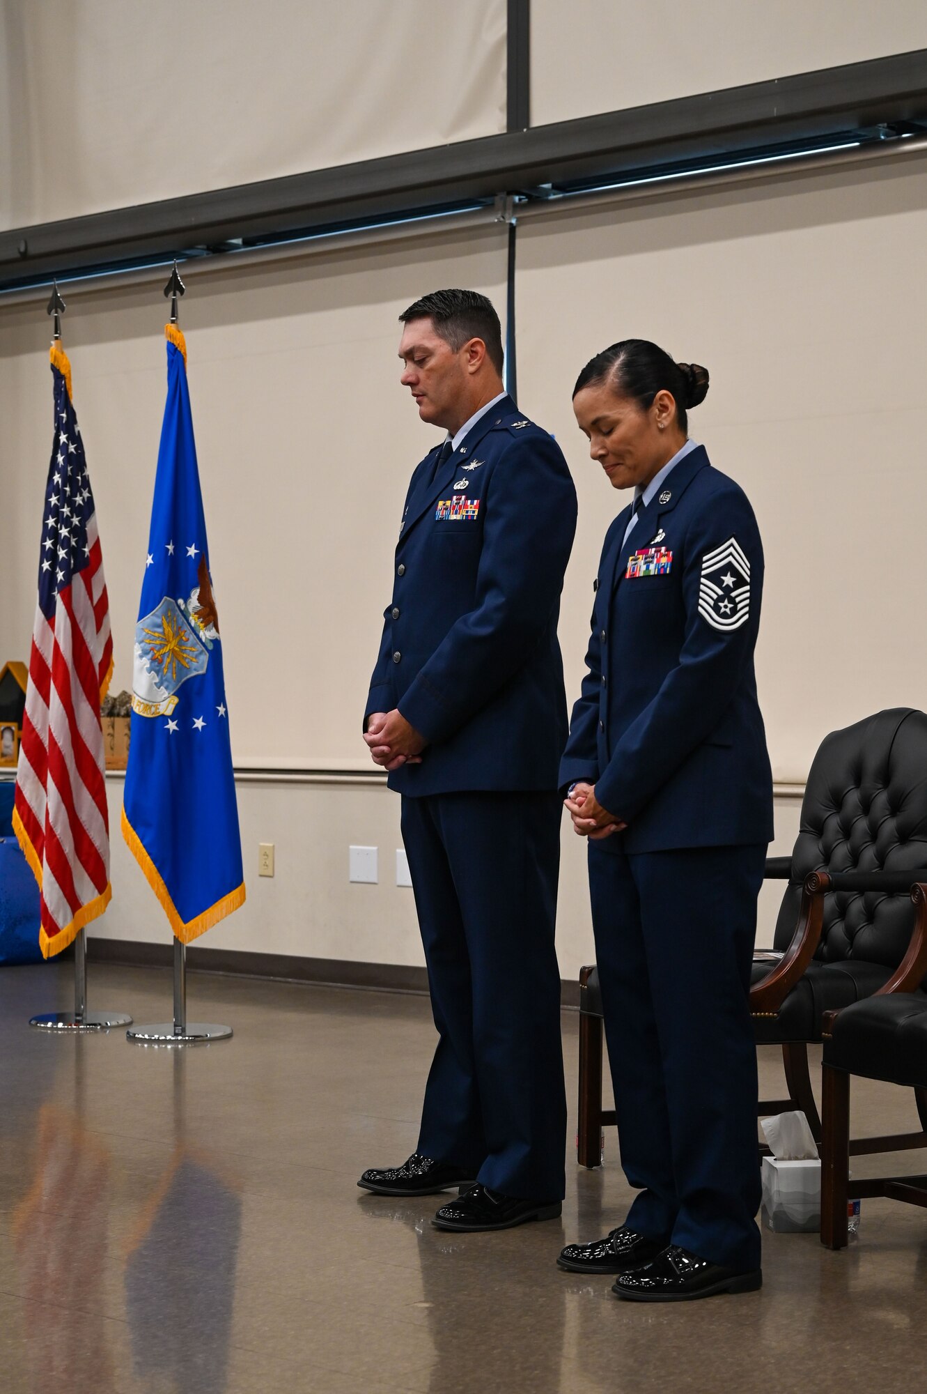
{"type": "Polygon", "coordinates": [[[554,793],[402,799],[438,1044],[418,1150],[493,1190],[562,1199],[554,793]]]}

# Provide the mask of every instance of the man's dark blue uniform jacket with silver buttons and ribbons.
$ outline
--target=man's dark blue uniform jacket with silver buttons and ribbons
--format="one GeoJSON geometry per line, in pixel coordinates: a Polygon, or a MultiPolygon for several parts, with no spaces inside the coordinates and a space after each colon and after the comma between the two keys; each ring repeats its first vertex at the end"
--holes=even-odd
{"type": "Polygon", "coordinates": [[[438,470],[412,475],[365,710],[427,737],[405,795],[557,789],[566,742],[560,592],[576,491],[560,446],[511,397],[438,470]]]}

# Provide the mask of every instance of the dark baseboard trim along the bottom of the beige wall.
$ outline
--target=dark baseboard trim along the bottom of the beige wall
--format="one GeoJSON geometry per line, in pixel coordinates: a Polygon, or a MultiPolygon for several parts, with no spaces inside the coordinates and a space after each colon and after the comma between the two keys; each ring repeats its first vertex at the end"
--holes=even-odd
{"type": "MultiPolygon", "coordinates": [[[[88,937],[86,955],[95,963],[124,967],[170,967],[173,944],[88,937]]],[[[248,949],[212,949],[196,944],[187,949],[191,973],[266,979],[273,983],[310,983],[366,993],[409,993],[427,997],[423,967],[402,963],[356,963],[349,959],[302,958],[296,953],[255,953],[248,949]]],[[[579,983],[561,980],[561,1006],[579,1008],[579,983]]]]}

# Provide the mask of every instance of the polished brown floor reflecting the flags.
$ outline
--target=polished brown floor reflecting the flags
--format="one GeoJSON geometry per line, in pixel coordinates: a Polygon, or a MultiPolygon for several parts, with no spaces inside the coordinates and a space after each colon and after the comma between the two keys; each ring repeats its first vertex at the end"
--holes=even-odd
{"type": "MultiPolygon", "coordinates": [[[[0,1390],[25,1394],[816,1394],[919,1387],[927,1211],[863,1204],[848,1252],[764,1234],[760,1294],[617,1302],[554,1266],[618,1224],[629,1190],[568,1160],[562,1221],[433,1230],[438,1202],[377,1199],[363,1167],[412,1151],[427,1002],[191,974],[191,1018],[231,1041],[53,1039],[68,965],[0,972],[0,1390]]],[[[170,974],[92,967],[90,1005],[168,1015],[170,974]]],[[[564,1015],[569,1093],[576,1016],[564,1015]]],[[[778,1092],[774,1052],[761,1058],[778,1092]]],[[[856,1131],[913,1125],[857,1085],[856,1131]]],[[[572,1139],[572,1122],[571,1122],[572,1139]]],[[[923,1153],[895,1160],[924,1165],[923,1153]]],[[[860,1174],[881,1158],[860,1158],[860,1174]]]]}

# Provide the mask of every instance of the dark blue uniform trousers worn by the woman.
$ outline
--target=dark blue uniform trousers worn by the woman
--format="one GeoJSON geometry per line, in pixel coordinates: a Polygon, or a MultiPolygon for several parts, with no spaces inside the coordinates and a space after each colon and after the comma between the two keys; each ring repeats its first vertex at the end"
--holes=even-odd
{"type": "Polygon", "coordinates": [[[747,994],[766,850],[589,845],[621,1164],[640,1189],[626,1223],[743,1273],[760,1267],[747,994]]]}

